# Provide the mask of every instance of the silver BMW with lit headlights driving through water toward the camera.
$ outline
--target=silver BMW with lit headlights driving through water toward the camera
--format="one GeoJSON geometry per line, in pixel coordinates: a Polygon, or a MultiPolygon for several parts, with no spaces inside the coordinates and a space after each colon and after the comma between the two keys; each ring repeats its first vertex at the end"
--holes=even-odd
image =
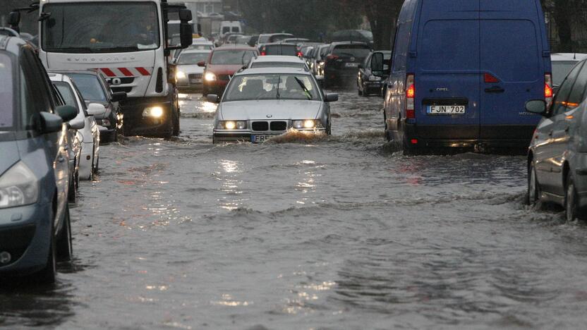
{"type": "Polygon", "coordinates": [[[329,102],[338,94],[324,94],[314,75],[296,68],[251,68],[229,82],[214,117],[213,142],[264,142],[295,129],[330,134],[329,102]]]}

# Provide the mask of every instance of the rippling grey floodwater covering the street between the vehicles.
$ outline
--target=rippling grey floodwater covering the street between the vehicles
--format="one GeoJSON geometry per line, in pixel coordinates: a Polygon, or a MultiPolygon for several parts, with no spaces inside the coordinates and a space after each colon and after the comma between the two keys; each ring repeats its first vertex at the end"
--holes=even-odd
{"type": "Polygon", "coordinates": [[[101,149],[72,206],[75,259],[0,289],[0,326],[60,329],[584,329],[587,225],[528,209],[524,157],[404,157],[382,101],[341,93],[332,137],[101,149]]]}

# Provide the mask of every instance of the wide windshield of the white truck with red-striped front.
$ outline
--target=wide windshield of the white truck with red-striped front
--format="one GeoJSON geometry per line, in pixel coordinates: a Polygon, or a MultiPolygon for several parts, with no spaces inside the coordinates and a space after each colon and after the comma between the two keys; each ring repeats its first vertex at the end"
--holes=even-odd
{"type": "Polygon", "coordinates": [[[152,2],[47,4],[42,48],[61,53],[109,53],[159,48],[152,2]]]}

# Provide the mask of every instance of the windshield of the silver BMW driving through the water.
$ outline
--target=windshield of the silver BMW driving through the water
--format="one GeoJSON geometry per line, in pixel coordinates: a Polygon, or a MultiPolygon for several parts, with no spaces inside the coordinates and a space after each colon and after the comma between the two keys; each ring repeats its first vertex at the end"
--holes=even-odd
{"type": "Polygon", "coordinates": [[[231,80],[223,101],[257,99],[307,99],[320,101],[320,94],[310,75],[239,75],[231,80]]]}

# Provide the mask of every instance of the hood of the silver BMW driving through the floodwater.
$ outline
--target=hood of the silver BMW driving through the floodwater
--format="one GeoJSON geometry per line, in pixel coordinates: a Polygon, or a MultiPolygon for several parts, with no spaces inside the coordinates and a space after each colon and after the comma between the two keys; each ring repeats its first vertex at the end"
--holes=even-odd
{"type": "Polygon", "coordinates": [[[223,102],[219,106],[221,120],[315,119],[321,101],[270,99],[223,102]]]}

